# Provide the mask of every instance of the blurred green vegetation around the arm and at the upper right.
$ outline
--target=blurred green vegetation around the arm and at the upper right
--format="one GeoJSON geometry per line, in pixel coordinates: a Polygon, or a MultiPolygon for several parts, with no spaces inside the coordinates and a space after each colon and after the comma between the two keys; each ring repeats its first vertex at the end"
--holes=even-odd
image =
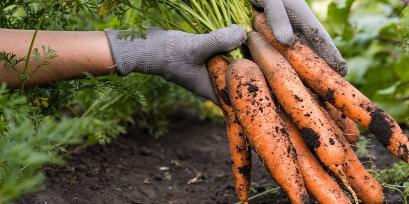
{"type": "MultiPolygon", "coordinates": [[[[154,20],[149,20],[152,16],[141,21],[147,18],[149,8],[141,5],[141,1],[133,2],[6,0],[0,2],[0,28],[35,29],[43,13],[46,15],[40,30],[102,31],[157,26],[154,20]]],[[[347,60],[350,72],[346,79],[397,121],[407,124],[406,3],[401,0],[307,0],[307,3],[347,60]]],[[[41,169],[62,164],[62,156],[70,154],[67,145],[105,144],[126,134],[131,124],[141,126],[152,137],[160,137],[167,132],[167,116],[179,108],[200,119],[211,118],[223,124],[220,109],[210,101],[160,77],[139,73],[126,78],[88,75],[84,79],[25,89],[24,94],[1,86],[0,102],[0,203],[37,190],[44,179],[41,169]]]]}

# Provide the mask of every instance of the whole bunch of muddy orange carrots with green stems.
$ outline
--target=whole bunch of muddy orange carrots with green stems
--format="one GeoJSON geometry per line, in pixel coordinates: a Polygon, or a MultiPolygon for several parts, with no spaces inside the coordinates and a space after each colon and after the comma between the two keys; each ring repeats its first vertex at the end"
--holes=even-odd
{"type": "Polygon", "coordinates": [[[280,44],[265,14],[253,16],[245,0],[154,2],[158,12],[177,8],[178,15],[203,29],[199,33],[230,23],[240,23],[248,32],[249,54],[238,49],[207,61],[243,203],[248,202],[252,151],[291,203],[309,203],[309,196],[319,203],[383,203],[382,186],[351,145],[359,137],[359,124],[407,163],[409,141],[388,113],[297,36],[291,46],[280,44]]]}

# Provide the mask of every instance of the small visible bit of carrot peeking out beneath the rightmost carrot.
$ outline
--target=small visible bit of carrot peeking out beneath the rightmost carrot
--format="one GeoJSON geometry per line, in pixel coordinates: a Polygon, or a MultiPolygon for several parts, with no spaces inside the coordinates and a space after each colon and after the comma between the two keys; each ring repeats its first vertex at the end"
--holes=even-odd
{"type": "Polygon", "coordinates": [[[355,122],[351,120],[351,118],[347,117],[344,113],[336,109],[334,106],[332,106],[332,104],[330,104],[328,101],[324,101],[324,103],[326,111],[342,131],[345,139],[347,139],[350,144],[355,144],[356,141],[358,141],[360,135],[359,129],[355,125],[355,122]]]}

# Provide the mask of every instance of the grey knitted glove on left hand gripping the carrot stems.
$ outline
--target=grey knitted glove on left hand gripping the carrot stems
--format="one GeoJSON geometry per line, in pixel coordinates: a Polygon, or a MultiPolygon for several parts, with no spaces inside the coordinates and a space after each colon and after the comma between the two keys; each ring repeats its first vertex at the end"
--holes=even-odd
{"type": "Polygon", "coordinates": [[[238,47],[246,39],[244,28],[238,24],[209,34],[149,28],[144,31],[146,39],[135,37],[133,41],[130,37],[118,39],[118,32],[105,30],[121,76],[131,72],[160,75],[216,105],[219,100],[209,79],[206,60],[216,53],[238,47]]]}

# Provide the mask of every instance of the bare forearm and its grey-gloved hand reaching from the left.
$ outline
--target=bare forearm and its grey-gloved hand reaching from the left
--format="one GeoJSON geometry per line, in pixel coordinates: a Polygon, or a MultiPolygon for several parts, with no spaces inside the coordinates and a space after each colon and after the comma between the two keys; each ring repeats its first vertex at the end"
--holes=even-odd
{"type": "MultiPolygon", "coordinates": [[[[83,72],[107,75],[111,70],[125,76],[131,72],[160,75],[165,80],[206,97],[218,104],[206,67],[206,60],[220,52],[229,52],[246,39],[241,25],[212,31],[208,34],[191,34],[181,31],[149,28],[146,38],[117,39],[119,31],[67,32],[39,31],[34,47],[50,47],[58,57],[49,59],[49,66],[41,67],[34,77],[24,82],[25,87],[73,79],[83,72]],[[111,52],[112,50],[112,52],[111,52]]],[[[0,51],[13,53],[17,58],[27,56],[34,31],[0,29],[0,51]]],[[[40,60],[43,56],[40,56],[40,60]]],[[[35,69],[35,60],[30,67],[35,69]]],[[[16,67],[24,70],[24,62],[16,67]]],[[[0,61],[0,83],[19,88],[18,74],[0,61]]]]}

